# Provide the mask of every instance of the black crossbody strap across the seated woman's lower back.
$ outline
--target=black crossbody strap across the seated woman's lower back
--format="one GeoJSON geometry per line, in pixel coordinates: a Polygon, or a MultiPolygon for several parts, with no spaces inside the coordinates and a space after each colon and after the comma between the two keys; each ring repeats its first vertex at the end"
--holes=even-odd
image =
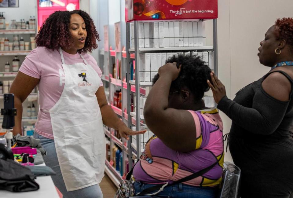
{"type": "MultiPolygon", "coordinates": [[[[140,196],[141,196],[141,195],[146,195],[146,194],[148,194],[148,193],[150,193],[150,192],[153,192],[153,191],[155,191],[155,190],[159,190],[159,189],[161,189],[161,191],[162,191],[164,187],[171,186],[171,185],[175,185],[175,184],[179,184],[179,183],[183,183],[183,182],[187,182],[187,181],[189,181],[189,180],[192,180],[192,179],[194,179],[194,178],[197,178],[197,177],[199,177],[199,176],[201,176],[201,175],[207,173],[207,172],[210,171],[214,166],[216,166],[216,165],[218,164],[218,162],[222,159],[223,154],[224,154],[224,152],[222,152],[222,155],[221,155],[221,157],[219,158],[219,160],[217,160],[217,161],[216,161],[215,163],[213,163],[211,166],[209,166],[209,167],[207,167],[207,168],[204,168],[204,169],[201,170],[201,171],[198,171],[198,172],[196,172],[196,173],[193,173],[193,174],[191,174],[191,175],[189,175],[189,176],[187,176],[187,177],[185,177],[185,178],[179,179],[178,181],[173,182],[172,184],[167,184],[167,185],[166,185],[166,184],[159,184],[159,185],[155,185],[155,186],[153,186],[153,187],[150,187],[150,188],[147,188],[147,189],[141,191],[140,193],[137,193],[136,195],[140,195],[140,196]]],[[[132,170],[131,170],[131,172],[132,172],[132,170]]],[[[127,176],[128,176],[128,175],[127,175],[127,176]]]]}

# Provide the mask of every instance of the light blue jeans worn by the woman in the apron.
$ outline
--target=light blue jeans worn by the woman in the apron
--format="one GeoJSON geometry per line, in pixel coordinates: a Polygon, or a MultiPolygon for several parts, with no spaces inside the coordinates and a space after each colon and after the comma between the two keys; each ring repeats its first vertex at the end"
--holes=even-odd
{"type": "Polygon", "coordinates": [[[37,133],[34,133],[34,138],[40,139],[42,147],[44,147],[44,149],[46,149],[47,151],[47,155],[44,156],[44,161],[46,163],[46,166],[52,168],[53,171],[57,173],[56,175],[53,175],[51,177],[54,182],[54,185],[62,193],[63,198],[103,198],[103,193],[98,184],[68,192],[66,190],[65,183],[63,181],[63,177],[60,171],[54,140],[45,138],[37,133]]]}

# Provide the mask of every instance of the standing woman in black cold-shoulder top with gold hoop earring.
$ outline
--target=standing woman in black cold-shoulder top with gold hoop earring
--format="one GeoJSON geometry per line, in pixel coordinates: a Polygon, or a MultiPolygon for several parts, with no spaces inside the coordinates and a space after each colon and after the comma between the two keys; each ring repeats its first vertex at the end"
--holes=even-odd
{"type": "Polygon", "coordinates": [[[229,149],[240,167],[241,198],[293,197],[293,19],[278,19],[258,48],[272,69],[239,90],[234,100],[211,73],[218,108],[230,119],[229,149]]]}

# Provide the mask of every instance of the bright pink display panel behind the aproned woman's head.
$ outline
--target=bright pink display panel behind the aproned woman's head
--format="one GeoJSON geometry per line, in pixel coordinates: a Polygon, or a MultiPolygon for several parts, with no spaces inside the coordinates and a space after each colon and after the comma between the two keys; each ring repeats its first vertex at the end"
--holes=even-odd
{"type": "Polygon", "coordinates": [[[79,0],[38,0],[38,30],[55,11],[79,9],[79,0]]]}

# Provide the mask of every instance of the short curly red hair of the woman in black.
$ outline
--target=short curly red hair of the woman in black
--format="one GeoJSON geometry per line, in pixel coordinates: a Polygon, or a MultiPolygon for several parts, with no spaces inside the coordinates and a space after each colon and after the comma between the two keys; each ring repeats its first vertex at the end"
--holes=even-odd
{"type": "Polygon", "coordinates": [[[286,43],[293,47],[293,19],[291,17],[277,19],[277,37],[284,39],[286,43]]]}

